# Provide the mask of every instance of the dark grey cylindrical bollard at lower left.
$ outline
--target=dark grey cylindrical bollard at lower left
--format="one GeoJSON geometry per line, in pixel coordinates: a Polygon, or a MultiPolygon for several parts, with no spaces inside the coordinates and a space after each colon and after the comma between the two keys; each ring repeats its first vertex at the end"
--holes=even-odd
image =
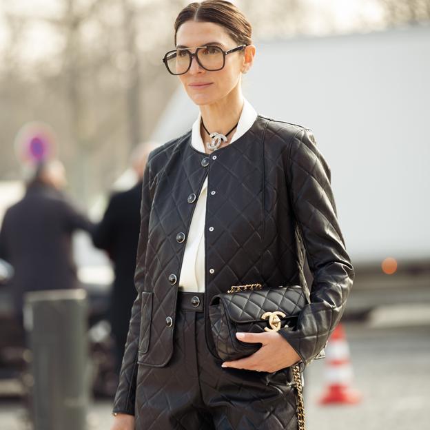
{"type": "Polygon", "coordinates": [[[25,294],[32,352],[34,430],[85,430],[89,402],[88,304],[84,289],[25,294]]]}

